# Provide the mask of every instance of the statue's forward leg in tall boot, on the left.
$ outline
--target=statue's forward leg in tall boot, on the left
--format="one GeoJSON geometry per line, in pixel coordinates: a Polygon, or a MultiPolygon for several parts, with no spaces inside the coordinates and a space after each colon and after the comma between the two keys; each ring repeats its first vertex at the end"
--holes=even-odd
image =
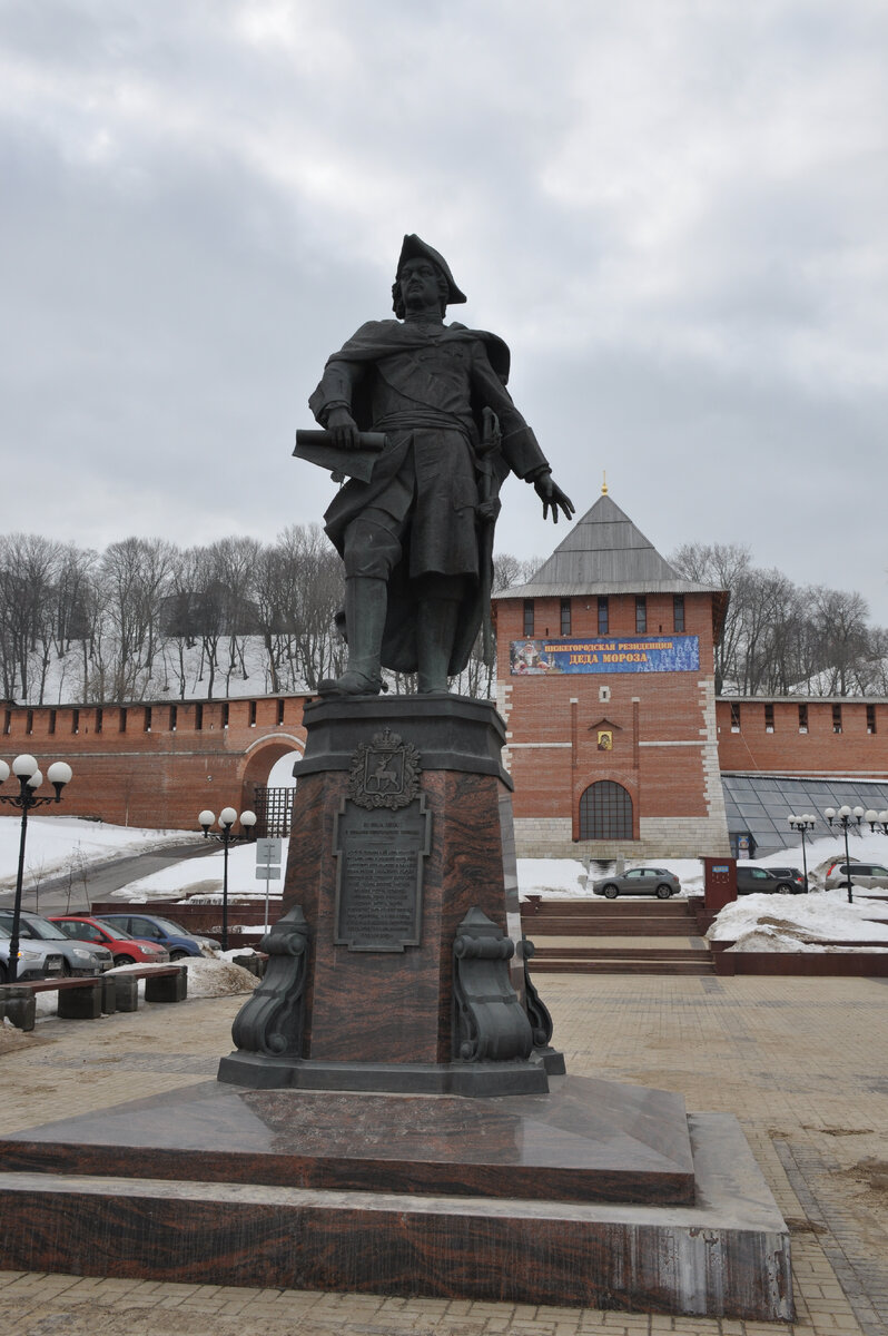
{"type": "Polygon", "coordinates": [[[365,512],[346,533],[346,632],[349,663],[341,677],[318,685],[323,696],[377,696],[382,689],[382,635],[389,605],[387,581],[401,557],[401,540],[386,514],[365,512]]]}

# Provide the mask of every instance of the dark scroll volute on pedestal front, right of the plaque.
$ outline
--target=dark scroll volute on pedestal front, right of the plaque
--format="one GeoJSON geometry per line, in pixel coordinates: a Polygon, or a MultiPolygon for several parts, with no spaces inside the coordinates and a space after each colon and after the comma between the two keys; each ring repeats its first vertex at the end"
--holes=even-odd
{"type": "Polygon", "coordinates": [[[454,1057],[463,1062],[526,1059],[533,1033],[509,978],[515,947],[477,906],[454,941],[454,1057]]]}

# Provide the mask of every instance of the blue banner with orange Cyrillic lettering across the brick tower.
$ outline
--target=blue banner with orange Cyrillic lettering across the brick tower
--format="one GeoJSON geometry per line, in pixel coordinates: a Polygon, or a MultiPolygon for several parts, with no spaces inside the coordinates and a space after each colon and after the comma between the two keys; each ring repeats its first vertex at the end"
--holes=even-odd
{"type": "Polygon", "coordinates": [[[572,672],[700,672],[697,636],[605,636],[597,640],[513,640],[513,677],[572,672]]]}

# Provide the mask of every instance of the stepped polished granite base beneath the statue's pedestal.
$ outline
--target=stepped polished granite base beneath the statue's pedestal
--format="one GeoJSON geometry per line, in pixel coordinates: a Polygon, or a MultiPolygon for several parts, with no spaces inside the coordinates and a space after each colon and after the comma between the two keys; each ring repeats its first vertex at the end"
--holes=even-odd
{"type": "Polygon", "coordinates": [[[728,1114],[592,1078],[497,1100],[207,1082],[0,1138],[4,1264],[789,1320],[728,1114]]]}

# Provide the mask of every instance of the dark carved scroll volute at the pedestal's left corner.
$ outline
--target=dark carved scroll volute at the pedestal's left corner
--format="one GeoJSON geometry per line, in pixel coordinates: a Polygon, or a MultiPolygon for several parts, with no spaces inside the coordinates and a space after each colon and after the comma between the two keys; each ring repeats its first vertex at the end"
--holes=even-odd
{"type": "Polygon", "coordinates": [[[302,907],[294,904],[259,942],[268,963],[262,983],[231,1026],[238,1049],[268,1057],[302,1057],[308,947],[308,925],[302,907]]]}

